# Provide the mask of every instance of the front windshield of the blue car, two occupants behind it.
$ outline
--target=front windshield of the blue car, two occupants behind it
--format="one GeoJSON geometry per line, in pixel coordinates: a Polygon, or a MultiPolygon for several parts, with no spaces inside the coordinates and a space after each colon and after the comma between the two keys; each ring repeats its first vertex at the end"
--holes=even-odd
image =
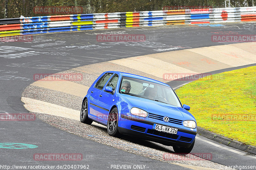
{"type": "Polygon", "coordinates": [[[119,93],[181,107],[172,88],[137,78],[123,77],[119,93]]]}

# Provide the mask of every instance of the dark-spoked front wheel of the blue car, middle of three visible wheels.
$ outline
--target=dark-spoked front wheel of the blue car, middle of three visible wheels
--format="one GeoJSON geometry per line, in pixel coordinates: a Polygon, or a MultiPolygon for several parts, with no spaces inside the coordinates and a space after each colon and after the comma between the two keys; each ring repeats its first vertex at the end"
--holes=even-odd
{"type": "Polygon", "coordinates": [[[113,137],[120,136],[118,130],[118,110],[117,108],[113,108],[108,115],[108,123],[107,123],[108,135],[113,137]]]}

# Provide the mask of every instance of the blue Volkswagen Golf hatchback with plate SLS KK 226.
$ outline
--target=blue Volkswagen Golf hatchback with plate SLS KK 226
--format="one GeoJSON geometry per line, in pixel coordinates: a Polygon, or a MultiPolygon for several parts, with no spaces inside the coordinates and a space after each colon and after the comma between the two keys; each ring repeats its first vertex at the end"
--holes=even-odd
{"type": "Polygon", "coordinates": [[[110,136],[127,134],[172,146],[188,154],[196,137],[196,119],[173,89],[142,76],[107,71],[84,97],[80,121],[107,126],[110,136]]]}

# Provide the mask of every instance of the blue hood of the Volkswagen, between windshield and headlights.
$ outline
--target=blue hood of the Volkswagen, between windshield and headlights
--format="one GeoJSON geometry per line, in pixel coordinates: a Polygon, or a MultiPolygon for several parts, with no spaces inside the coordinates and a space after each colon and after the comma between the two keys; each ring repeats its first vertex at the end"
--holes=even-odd
{"type": "Polygon", "coordinates": [[[148,113],[168,116],[168,117],[183,120],[183,121],[184,120],[196,121],[194,116],[191,115],[184,108],[176,107],[173,105],[165,104],[165,103],[154,101],[154,100],[148,100],[148,99],[139,98],[136,96],[130,96],[126,94],[124,94],[124,97],[131,102],[133,107],[138,107],[140,109],[147,111],[148,113]]]}

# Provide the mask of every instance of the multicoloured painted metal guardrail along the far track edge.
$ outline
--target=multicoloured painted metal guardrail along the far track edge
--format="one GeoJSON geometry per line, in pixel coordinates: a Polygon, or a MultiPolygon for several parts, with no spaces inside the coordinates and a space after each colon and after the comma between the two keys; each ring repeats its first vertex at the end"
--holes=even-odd
{"type": "Polygon", "coordinates": [[[256,7],[7,18],[0,19],[0,37],[108,28],[241,21],[256,21],[256,7]]]}

